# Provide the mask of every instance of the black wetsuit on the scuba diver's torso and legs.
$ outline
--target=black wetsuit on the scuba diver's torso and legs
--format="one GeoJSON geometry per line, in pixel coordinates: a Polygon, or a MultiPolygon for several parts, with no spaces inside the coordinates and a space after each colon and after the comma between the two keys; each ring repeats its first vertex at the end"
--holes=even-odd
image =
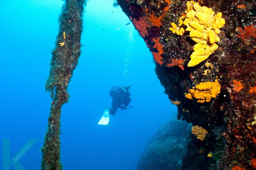
{"type": "Polygon", "coordinates": [[[115,115],[117,108],[127,109],[132,98],[129,93],[129,87],[123,89],[123,87],[118,87],[118,93],[112,99],[112,108],[110,109],[110,114],[115,115]]]}

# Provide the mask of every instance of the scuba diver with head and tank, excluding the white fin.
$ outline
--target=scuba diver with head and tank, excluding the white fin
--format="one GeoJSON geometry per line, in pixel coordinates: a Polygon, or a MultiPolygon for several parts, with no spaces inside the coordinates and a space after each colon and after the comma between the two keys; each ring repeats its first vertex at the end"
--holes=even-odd
{"type": "Polygon", "coordinates": [[[131,98],[131,94],[130,94],[130,87],[133,84],[130,85],[120,85],[120,86],[112,86],[110,89],[110,97],[113,97],[112,99],[112,108],[106,108],[106,110],[108,111],[108,109],[110,109],[109,113],[111,115],[115,115],[117,112],[117,108],[126,110],[127,106],[129,106],[132,98],[131,98]]]}

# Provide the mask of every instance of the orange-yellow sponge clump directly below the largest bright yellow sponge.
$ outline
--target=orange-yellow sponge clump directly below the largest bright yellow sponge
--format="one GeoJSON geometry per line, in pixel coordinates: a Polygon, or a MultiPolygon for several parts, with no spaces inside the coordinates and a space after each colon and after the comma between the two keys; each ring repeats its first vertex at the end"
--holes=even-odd
{"type": "Polygon", "coordinates": [[[190,89],[190,93],[186,94],[185,97],[189,99],[196,98],[198,103],[209,102],[212,98],[217,97],[220,93],[220,84],[216,79],[215,82],[204,82],[199,83],[193,89],[190,89]]]}

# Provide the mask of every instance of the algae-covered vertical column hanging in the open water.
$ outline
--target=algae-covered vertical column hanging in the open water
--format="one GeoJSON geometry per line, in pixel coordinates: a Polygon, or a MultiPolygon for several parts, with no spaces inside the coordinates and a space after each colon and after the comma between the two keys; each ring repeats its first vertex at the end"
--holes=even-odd
{"type": "Polygon", "coordinates": [[[42,170],[60,170],[60,113],[68,102],[68,83],[80,56],[82,14],[85,0],[66,0],[59,18],[59,33],[52,51],[50,74],[46,90],[51,92],[52,103],[48,129],[42,148],[42,170]]]}

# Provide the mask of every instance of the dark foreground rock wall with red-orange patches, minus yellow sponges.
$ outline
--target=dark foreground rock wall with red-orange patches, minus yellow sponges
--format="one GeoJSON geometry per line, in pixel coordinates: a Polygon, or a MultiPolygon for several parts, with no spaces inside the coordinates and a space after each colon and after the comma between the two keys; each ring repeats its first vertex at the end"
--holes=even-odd
{"type": "Polygon", "coordinates": [[[152,52],[155,72],[165,93],[170,100],[180,102],[177,118],[208,131],[204,141],[189,136],[191,148],[182,160],[181,169],[196,167],[199,163],[206,169],[256,168],[255,0],[199,1],[199,5],[212,8],[214,15],[222,12],[225,25],[218,34],[218,49],[194,67],[187,64],[196,42],[189,32],[180,36],[170,31],[171,23],[178,25],[185,13],[187,1],[117,2],[152,52]],[[209,102],[199,103],[185,97],[196,85],[215,80],[221,90],[209,102]],[[198,154],[194,153],[201,148],[206,152],[200,153],[200,162],[191,161],[197,160],[198,154]],[[208,152],[212,152],[212,157],[207,157],[208,152]]]}

